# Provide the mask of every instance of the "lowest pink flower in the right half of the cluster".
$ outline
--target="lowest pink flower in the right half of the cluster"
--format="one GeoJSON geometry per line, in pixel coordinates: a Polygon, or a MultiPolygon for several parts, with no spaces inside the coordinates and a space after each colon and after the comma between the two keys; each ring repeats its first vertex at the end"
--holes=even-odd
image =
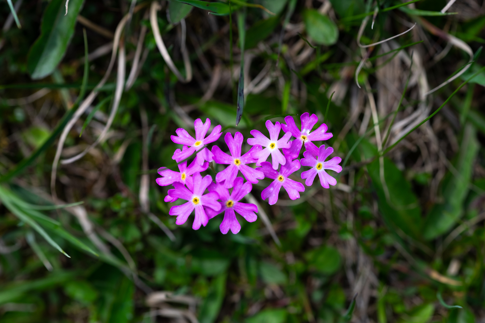
{"type": "Polygon", "coordinates": [[[278,200],[278,194],[281,186],[285,188],[291,200],[299,199],[300,193],[298,192],[305,191],[305,186],[288,178],[291,173],[297,171],[298,169],[300,169],[300,161],[298,159],[291,161],[291,156],[289,155],[286,156],[286,164],[281,165],[279,172],[273,169],[269,162],[262,162],[261,170],[263,171],[264,176],[274,179],[274,181],[268,187],[263,189],[261,192],[261,199],[266,200],[269,198],[268,203],[270,205],[275,204],[278,200]]]}

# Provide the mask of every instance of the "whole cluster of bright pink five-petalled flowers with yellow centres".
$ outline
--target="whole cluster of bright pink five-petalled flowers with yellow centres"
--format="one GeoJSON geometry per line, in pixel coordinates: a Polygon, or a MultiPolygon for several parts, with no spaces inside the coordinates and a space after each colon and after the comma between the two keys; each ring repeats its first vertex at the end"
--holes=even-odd
{"type": "Polygon", "coordinates": [[[311,186],[317,174],[323,187],[329,188],[329,185],[336,185],[337,180],[325,169],[340,172],[341,158],[333,157],[325,161],[333,153],[333,148],[325,148],[325,145],[317,147],[314,143],[328,140],[332,134],[326,132],[328,128],[324,123],[312,131],[318,123],[318,117],[315,114],[310,116],[309,113],[304,113],[300,119],[301,129],[291,116],[285,118],[286,124],[279,122],[273,124],[269,120],[266,121],[269,138],[258,130],[251,130],[254,138],[248,138],[247,143],[252,148],[245,154],[242,154],[244,138],[240,132],[236,132],[234,137],[230,133],[224,136],[229,154],[215,145],[209,150],[207,145],[215,142],[222,135],[221,126],[217,125],[206,137],[210,129],[209,119],[205,123],[200,119],[195,120],[195,138],[185,129],[178,128],[177,136],[171,136],[171,138],[173,142],[182,145],[182,150],[177,149],[172,156],[172,159],[178,163],[179,171],[162,167],[158,169],[162,177],[157,178],[158,185],[174,187],[168,190],[168,195],[164,199],[166,202],[175,202],[178,199],[187,201],[170,208],[169,214],[177,215],[176,223],[184,224],[195,210],[192,228],[198,230],[201,225],[206,226],[212,217],[224,212],[221,232],[226,234],[230,230],[236,234],[241,230],[236,213],[248,222],[254,222],[257,219],[258,207],[255,204],[241,202],[242,198],[251,192],[252,184],[257,184],[264,178],[273,180],[261,192],[261,198],[268,199],[271,205],[278,200],[281,187],[286,190],[291,200],[299,199],[300,192],[305,191],[305,186],[290,177],[302,165],[310,167],[301,173],[301,179],[306,180],[305,185],[311,186]],[[285,134],[279,138],[281,130],[285,134]],[[291,137],[295,139],[290,141],[291,137]],[[305,146],[304,158],[299,160],[303,146],[305,146]],[[194,153],[196,153],[195,158],[187,167],[187,159],[194,153]],[[270,155],[271,163],[267,162],[270,155]],[[201,175],[201,172],[209,168],[210,162],[228,165],[216,174],[215,181],[210,175],[201,175]],[[254,163],[256,163],[256,169],[250,166],[254,163]],[[239,172],[242,177],[238,177],[239,172]]]}

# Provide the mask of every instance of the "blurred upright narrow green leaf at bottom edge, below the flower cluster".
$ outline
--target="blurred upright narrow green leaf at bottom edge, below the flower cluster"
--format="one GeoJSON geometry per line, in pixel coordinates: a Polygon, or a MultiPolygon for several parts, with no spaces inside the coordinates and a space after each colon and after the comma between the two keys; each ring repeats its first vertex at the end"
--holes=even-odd
{"type": "Polygon", "coordinates": [[[211,281],[207,297],[200,306],[200,323],[213,323],[217,319],[226,293],[226,277],[224,273],[211,281]]]}

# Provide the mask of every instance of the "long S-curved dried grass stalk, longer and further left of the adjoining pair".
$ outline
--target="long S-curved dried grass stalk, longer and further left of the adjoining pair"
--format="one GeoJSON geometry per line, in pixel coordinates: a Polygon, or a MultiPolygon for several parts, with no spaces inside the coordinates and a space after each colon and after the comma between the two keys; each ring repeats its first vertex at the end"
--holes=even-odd
{"type": "Polygon", "coordinates": [[[81,117],[84,111],[86,111],[86,109],[91,105],[91,103],[93,103],[99,89],[106,83],[106,81],[108,80],[108,77],[110,77],[111,71],[113,70],[114,61],[116,60],[116,53],[117,53],[120,38],[121,38],[121,31],[123,31],[123,28],[125,27],[127,20],[128,20],[128,15],[125,15],[123,19],[121,19],[121,21],[119,22],[118,26],[116,27],[116,31],[114,33],[114,41],[113,41],[113,52],[111,54],[111,60],[108,65],[108,69],[104,74],[104,77],[99,81],[97,86],[93,89],[91,93],[89,93],[89,95],[84,99],[84,101],[82,101],[81,105],[72,116],[72,119],[69,120],[69,122],[66,124],[61,134],[61,137],[59,138],[56,154],[52,162],[52,171],[50,174],[50,191],[51,191],[52,199],[55,202],[57,202],[57,194],[55,190],[57,164],[59,163],[59,159],[61,158],[61,153],[64,147],[65,139],[67,138],[67,134],[69,133],[71,128],[78,121],[78,119],[81,117]]]}

